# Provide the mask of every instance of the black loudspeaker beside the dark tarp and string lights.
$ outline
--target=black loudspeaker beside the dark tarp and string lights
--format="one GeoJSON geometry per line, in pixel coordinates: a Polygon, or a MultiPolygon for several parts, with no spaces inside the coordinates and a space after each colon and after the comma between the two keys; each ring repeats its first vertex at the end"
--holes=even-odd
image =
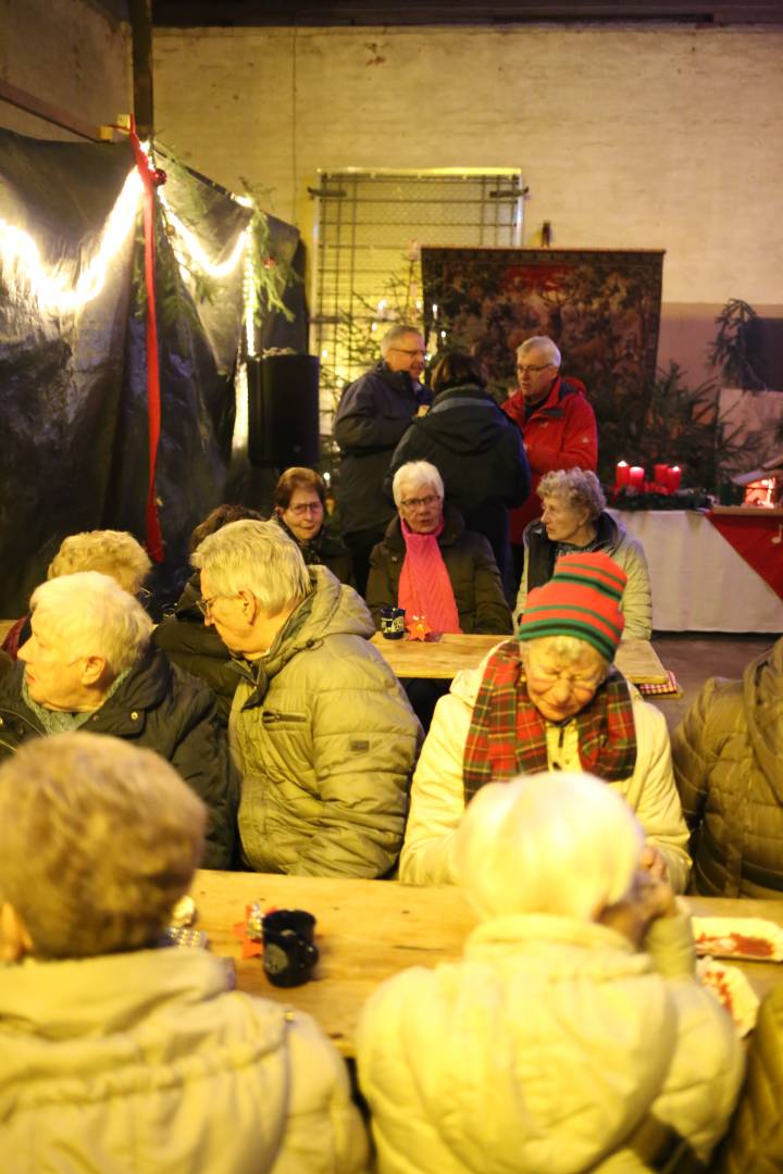
{"type": "Polygon", "coordinates": [[[248,359],[248,456],[254,465],[318,464],[318,359],[248,359]]]}

